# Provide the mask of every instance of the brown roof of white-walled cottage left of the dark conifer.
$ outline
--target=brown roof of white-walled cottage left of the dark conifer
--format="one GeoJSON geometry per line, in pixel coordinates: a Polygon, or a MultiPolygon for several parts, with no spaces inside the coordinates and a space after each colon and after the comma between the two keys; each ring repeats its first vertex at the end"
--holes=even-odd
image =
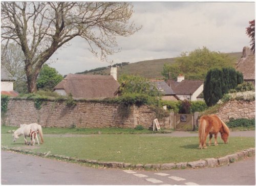
{"type": "Polygon", "coordinates": [[[168,84],[174,90],[176,95],[193,95],[194,92],[204,83],[201,80],[182,80],[177,82],[175,80],[168,80],[168,84]]]}

